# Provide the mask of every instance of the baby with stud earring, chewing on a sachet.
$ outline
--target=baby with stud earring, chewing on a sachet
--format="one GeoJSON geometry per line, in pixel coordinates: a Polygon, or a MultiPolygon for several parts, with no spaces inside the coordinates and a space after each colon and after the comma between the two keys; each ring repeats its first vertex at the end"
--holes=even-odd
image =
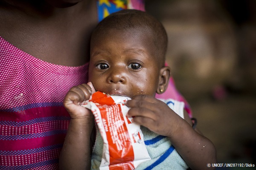
{"type": "Polygon", "coordinates": [[[183,119],[167,105],[169,102],[154,98],[169,82],[166,47],[162,24],[143,11],[119,11],[98,24],[91,37],[89,83],[71,88],[64,99],[71,119],[61,151],[61,169],[99,167],[102,146],[95,143],[94,117],[81,107],[95,91],[131,98],[126,103],[130,108],[127,116],[141,125],[151,156],[138,170],[200,170],[216,162],[214,145],[192,128],[188,114],[179,113],[183,119]]]}

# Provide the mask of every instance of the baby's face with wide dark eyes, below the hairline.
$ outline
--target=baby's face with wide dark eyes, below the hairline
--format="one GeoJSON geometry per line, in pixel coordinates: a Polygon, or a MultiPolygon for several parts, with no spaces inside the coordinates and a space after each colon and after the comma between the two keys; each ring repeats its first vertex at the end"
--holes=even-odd
{"type": "Polygon", "coordinates": [[[92,40],[89,81],[96,91],[131,98],[139,94],[155,95],[160,64],[147,34],[113,29],[92,40]]]}

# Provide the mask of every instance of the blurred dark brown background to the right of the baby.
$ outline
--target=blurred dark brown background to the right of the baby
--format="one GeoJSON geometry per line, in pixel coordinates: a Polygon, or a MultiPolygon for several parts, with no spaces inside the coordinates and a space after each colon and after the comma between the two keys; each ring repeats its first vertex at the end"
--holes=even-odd
{"type": "Polygon", "coordinates": [[[218,163],[256,164],[256,0],[145,4],[166,28],[177,89],[215,144],[218,163]]]}

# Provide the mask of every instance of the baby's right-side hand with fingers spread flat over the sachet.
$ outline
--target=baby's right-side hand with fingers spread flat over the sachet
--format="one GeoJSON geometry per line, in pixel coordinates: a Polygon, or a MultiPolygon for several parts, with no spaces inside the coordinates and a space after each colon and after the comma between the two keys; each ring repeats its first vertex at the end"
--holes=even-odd
{"type": "Polygon", "coordinates": [[[133,122],[163,136],[172,136],[182,119],[166,103],[147,95],[135,96],[126,105],[130,107],[127,116],[133,117],[133,122]]]}

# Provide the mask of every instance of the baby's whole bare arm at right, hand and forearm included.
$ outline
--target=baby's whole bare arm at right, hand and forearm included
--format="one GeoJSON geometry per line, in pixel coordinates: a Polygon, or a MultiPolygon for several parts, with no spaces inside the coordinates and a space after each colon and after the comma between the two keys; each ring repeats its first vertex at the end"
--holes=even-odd
{"type": "Polygon", "coordinates": [[[208,163],[216,162],[212,142],[192,128],[191,119],[184,113],[182,119],[164,102],[151,96],[139,95],[127,101],[131,109],[128,116],[133,122],[148,127],[163,136],[168,136],[173,146],[191,169],[209,169],[208,163]]]}

